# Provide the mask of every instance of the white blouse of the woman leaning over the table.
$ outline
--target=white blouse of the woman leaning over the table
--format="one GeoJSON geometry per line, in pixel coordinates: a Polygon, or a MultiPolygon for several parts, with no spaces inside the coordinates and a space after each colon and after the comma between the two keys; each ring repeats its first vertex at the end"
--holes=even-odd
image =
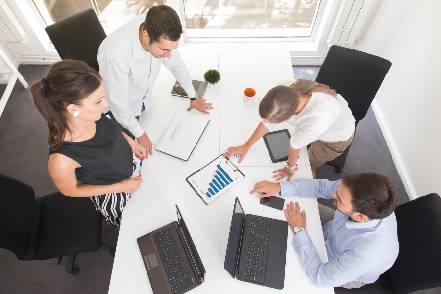
{"type": "MultiPolygon", "coordinates": [[[[289,86],[294,81],[283,81],[289,86]]],[[[355,130],[355,118],[349,109],[346,100],[340,95],[314,92],[305,108],[287,123],[295,126],[291,135],[290,145],[293,149],[300,149],[316,140],[323,142],[340,142],[348,140],[355,130]]],[[[275,124],[262,123],[272,130],[275,124]]]]}

